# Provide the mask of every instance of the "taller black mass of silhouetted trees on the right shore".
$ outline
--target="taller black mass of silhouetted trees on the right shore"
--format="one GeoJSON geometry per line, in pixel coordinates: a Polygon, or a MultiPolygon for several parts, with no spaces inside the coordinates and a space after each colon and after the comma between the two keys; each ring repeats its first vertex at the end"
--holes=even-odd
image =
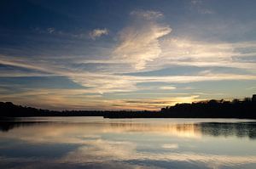
{"type": "Polygon", "coordinates": [[[161,109],[165,117],[187,118],[253,118],[256,119],[256,100],[208,100],[191,104],[176,104],[161,109]]]}

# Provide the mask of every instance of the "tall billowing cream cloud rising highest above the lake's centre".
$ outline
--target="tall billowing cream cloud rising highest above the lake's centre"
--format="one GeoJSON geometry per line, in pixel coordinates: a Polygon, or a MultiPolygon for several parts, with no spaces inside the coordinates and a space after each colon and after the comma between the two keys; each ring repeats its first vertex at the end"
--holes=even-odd
{"type": "Polygon", "coordinates": [[[136,70],[144,69],[148,61],[158,58],[161,53],[160,37],[169,34],[169,25],[161,25],[156,20],[160,12],[133,11],[133,22],[119,32],[119,44],[113,51],[113,58],[125,60],[136,70]]]}

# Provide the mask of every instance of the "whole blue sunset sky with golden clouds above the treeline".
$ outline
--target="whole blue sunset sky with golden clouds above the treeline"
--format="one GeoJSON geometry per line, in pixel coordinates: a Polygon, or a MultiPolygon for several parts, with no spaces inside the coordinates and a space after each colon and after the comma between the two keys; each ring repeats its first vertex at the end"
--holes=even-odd
{"type": "Polygon", "coordinates": [[[2,0],[0,101],[160,110],[256,93],[256,1],[2,0]]]}

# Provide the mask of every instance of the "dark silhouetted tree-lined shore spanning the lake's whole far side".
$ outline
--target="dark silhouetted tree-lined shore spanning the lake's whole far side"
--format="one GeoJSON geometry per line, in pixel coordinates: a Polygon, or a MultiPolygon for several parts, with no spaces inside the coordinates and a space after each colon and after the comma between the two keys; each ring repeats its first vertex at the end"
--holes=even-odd
{"type": "Polygon", "coordinates": [[[41,110],[0,102],[0,117],[26,116],[102,116],[104,118],[240,118],[256,119],[256,95],[232,101],[207,100],[191,104],[176,104],[159,111],[107,110],[41,110]]]}

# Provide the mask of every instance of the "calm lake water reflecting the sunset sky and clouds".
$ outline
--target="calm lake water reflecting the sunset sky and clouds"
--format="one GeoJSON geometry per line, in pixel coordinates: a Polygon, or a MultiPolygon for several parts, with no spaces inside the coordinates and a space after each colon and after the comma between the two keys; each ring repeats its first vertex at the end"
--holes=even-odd
{"type": "Polygon", "coordinates": [[[256,168],[256,121],[22,118],[0,122],[0,168],[256,168]]]}

